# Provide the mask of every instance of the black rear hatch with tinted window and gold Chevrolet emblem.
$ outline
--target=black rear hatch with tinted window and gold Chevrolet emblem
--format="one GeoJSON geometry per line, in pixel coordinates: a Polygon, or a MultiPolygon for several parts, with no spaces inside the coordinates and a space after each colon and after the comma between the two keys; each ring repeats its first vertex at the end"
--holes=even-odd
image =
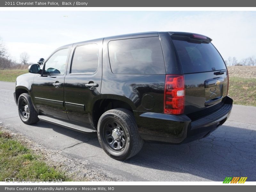
{"type": "Polygon", "coordinates": [[[192,120],[220,108],[228,91],[228,71],[209,37],[171,33],[185,80],[184,113],[192,120]]]}

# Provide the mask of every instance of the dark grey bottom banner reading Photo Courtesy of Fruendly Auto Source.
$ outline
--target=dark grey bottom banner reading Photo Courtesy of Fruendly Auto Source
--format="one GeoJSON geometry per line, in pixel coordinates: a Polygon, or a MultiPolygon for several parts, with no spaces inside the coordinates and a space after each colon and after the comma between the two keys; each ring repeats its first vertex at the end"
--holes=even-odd
{"type": "Polygon", "coordinates": [[[220,185],[214,185],[214,186],[174,186],[174,185],[158,185],[158,186],[147,186],[147,185],[59,185],[59,186],[53,186],[53,185],[44,185],[44,186],[38,186],[38,185],[31,185],[31,186],[25,186],[25,185],[12,185],[12,186],[0,186],[0,191],[2,192],[131,192],[131,191],[147,191],[147,192],[156,192],[156,191],[162,191],[162,192],[169,192],[169,191],[207,191],[207,192],[216,192],[221,190],[229,190],[229,191],[254,191],[255,186],[252,185],[230,185],[227,186],[223,184],[220,185]],[[243,186],[242,186],[243,185],[243,186]]]}

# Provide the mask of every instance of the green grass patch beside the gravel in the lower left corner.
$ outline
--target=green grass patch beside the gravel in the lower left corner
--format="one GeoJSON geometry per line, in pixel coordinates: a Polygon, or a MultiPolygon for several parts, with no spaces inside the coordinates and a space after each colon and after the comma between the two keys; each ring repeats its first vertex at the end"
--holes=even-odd
{"type": "Polygon", "coordinates": [[[64,172],[48,166],[7,132],[0,131],[0,181],[15,177],[26,180],[69,180],[64,172]]]}

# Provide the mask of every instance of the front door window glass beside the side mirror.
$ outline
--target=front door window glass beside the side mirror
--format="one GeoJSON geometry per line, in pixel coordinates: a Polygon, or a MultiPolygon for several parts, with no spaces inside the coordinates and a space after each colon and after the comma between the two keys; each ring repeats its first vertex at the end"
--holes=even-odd
{"type": "Polygon", "coordinates": [[[60,74],[63,75],[65,72],[65,66],[68,58],[68,48],[61,49],[55,52],[45,62],[44,74],[60,74]]]}

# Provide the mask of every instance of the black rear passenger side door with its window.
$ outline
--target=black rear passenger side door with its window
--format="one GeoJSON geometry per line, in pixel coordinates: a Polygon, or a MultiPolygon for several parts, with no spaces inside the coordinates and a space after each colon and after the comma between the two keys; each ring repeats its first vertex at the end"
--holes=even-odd
{"type": "Polygon", "coordinates": [[[102,41],[73,45],[71,65],[64,83],[64,99],[70,121],[93,127],[92,108],[100,95],[102,41]]]}

